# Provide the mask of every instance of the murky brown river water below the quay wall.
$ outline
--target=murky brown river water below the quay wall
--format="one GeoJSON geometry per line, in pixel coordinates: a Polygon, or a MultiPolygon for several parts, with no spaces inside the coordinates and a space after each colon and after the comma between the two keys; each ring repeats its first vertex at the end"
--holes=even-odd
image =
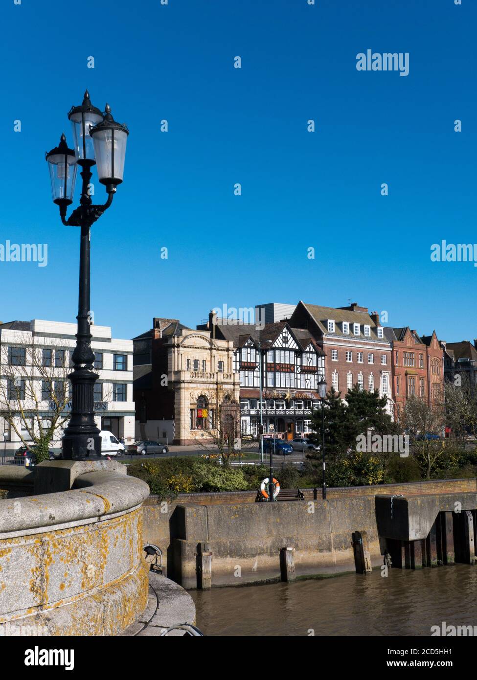
{"type": "Polygon", "coordinates": [[[477,626],[476,595],[465,564],[191,592],[202,632],[236,636],[429,636],[443,621],[477,626]]]}

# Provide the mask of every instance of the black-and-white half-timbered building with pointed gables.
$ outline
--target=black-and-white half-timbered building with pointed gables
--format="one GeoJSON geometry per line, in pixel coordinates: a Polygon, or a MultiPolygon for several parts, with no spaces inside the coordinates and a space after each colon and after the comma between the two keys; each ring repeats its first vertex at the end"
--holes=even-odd
{"type": "Polygon", "coordinates": [[[233,371],[240,376],[243,435],[257,435],[261,416],[265,433],[293,439],[311,432],[312,411],[319,404],[317,384],[325,375],[325,361],[308,331],[292,328],[287,322],[259,328],[218,318],[214,312],[208,323],[198,328],[233,343],[233,371]]]}

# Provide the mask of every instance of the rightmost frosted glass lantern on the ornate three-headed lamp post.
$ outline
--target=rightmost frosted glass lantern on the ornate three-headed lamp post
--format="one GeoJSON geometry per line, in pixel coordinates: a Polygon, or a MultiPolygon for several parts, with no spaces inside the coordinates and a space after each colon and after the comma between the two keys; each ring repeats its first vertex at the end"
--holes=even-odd
{"type": "Polygon", "coordinates": [[[117,123],[106,104],[104,118],[92,130],[99,182],[115,187],[121,184],[125,169],[127,125],[117,123]]]}

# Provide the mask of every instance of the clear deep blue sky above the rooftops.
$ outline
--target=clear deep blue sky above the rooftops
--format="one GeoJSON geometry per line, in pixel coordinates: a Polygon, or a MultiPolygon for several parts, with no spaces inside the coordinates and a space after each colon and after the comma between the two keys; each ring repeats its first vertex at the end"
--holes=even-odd
{"type": "Polygon", "coordinates": [[[442,239],[477,243],[477,3],[3,0],[0,19],[0,243],[48,243],[47,267],[0,262],[0,320],[76,316],[79,233],[59,220],[44,152],[63,131],[71,144],[67,112],[88,88],[130,130],[91,241],[95,322],[116,337],[299,299],[477,336],[477,267],[430,260],[442,239]],[[367,49],[408,52],[409,75],[357,71],[367,49]]]}

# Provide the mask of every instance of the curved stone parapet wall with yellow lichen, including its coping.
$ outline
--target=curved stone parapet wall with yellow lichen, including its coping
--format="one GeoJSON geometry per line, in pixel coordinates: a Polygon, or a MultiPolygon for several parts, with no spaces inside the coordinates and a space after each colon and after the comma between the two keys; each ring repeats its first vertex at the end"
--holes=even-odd
{"type": "MultiPolygon", "coordinates": [[[[110,635],[146,607],[142,503],[149,488],[99,462],[97,471],[88,463],[91,471],[71,490],[0,500],[0,624],[110,635]]],[[[1,466],[0,489],[23,481],[33,492],[25,472],[1,466]]]]}

